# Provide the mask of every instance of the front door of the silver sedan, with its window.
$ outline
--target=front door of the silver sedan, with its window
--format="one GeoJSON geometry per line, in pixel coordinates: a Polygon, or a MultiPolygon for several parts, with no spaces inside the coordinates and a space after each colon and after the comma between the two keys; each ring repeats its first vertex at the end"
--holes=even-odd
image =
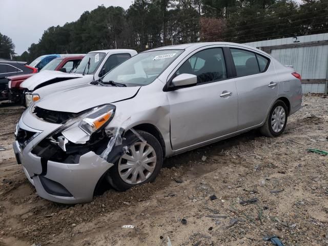
{"type": "Polygon", "coordinates": [[[197,75],[197,84],[167,92],[172,148],[182,149],[236,131],[238,96],[223,49],[194,51],[173,77],[183,73],[197,75]]]}

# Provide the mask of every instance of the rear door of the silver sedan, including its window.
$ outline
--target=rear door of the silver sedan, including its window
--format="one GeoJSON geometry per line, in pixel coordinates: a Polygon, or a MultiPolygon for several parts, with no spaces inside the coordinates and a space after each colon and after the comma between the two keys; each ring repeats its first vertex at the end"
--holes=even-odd
{"type": "Polygon", "coordinates": [[[270,58],[247,49],[230,48],[238,91],[238,130],[261,124],[278,95],[270,58]]]}

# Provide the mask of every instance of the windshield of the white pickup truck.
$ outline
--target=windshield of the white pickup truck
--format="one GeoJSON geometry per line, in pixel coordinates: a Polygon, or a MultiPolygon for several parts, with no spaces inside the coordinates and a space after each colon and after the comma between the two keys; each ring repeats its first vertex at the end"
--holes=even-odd
{"type": "Polygon", "coordinates": [[[88,53],[80,62],[74,73],[93,74],[101,61],[105,57],[105,53],[88,53]],[[88,64],[90,60],[90,65],[88,64]]]}

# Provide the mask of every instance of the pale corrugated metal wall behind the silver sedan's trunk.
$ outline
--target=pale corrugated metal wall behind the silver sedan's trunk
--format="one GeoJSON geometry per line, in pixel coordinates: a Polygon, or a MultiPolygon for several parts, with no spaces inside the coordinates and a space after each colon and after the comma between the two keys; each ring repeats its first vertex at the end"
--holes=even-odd
{"type": "MultiPolygon", "coordinates": [[[[247,43],[252,47],[280,46],[288,44],[301,44],[313,41],[328,40],[328,33],[300,36],[295,38],[280,38],[247,43]]],[[[272,49],[271,55],[283,65],[292,65],[301,74],[302,79],[326,79],[328,66],[328,45],[295,47],[285,49],[272,49]]],[[[306,83],[302,84],[303,93],[324,93],[325,84],[306,83]]]]}

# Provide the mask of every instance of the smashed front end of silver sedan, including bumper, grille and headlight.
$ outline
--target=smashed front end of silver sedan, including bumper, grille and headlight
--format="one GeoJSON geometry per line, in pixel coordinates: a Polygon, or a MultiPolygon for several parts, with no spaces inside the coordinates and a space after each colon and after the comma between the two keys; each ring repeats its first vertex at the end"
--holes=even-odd
{"type": "MultiPolygon", "coordinates": [[[[14,145],[22,150],[17,155],[38,195],[55,202],[91,201],[101,180],[108,176],[108,170],[129,152],[131,145],[140,141],[138,135],[129,140],[125,138],[124,124],[108,126],[116,111],[113,105],[68,113],[46,110],[34,104],[29,111],[26,122],[43,121],[39,124],[40,132],[33,135],[35,138],[27,136],[29,139],[22,140],[17,134],[14,145]],[[47,128],[56,130],[44,135],[43,129],[47,128]]],[[[18,128],[28,129],[28,126],[20,120],[18,128]]]]}

